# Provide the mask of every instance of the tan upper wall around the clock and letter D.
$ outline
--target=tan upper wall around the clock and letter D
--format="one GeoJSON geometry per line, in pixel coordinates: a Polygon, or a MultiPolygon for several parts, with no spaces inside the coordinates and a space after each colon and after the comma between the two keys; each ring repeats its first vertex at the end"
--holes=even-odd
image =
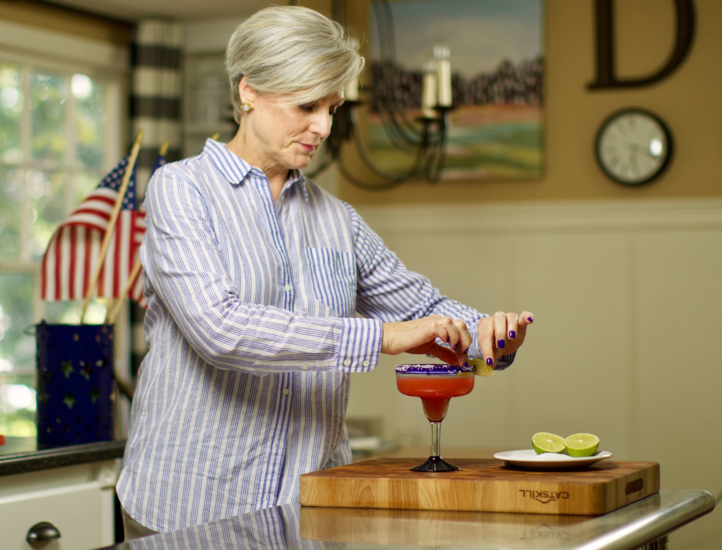
{"type": "MultiPolygon", "coordinates": [[[[546,0],[546,151],[540,180],[414,182],[386,192],[367,192],[343,182],[340,196],[361,205],[722,195],[722,2],[695,0],[695,6],[695,43],[676,72],[650,87],[590,91],[586,85],[596,71],[594,1],[546,0]],[[668,171],[639,188],[608,179],[593,155],[601,122],[627,106],[647,108],[661,116],[676,145],[668,171]]],[[[615,8],[619,75],[656,71],[673,46],[674,3],[617,0],[615,8]]]]}

